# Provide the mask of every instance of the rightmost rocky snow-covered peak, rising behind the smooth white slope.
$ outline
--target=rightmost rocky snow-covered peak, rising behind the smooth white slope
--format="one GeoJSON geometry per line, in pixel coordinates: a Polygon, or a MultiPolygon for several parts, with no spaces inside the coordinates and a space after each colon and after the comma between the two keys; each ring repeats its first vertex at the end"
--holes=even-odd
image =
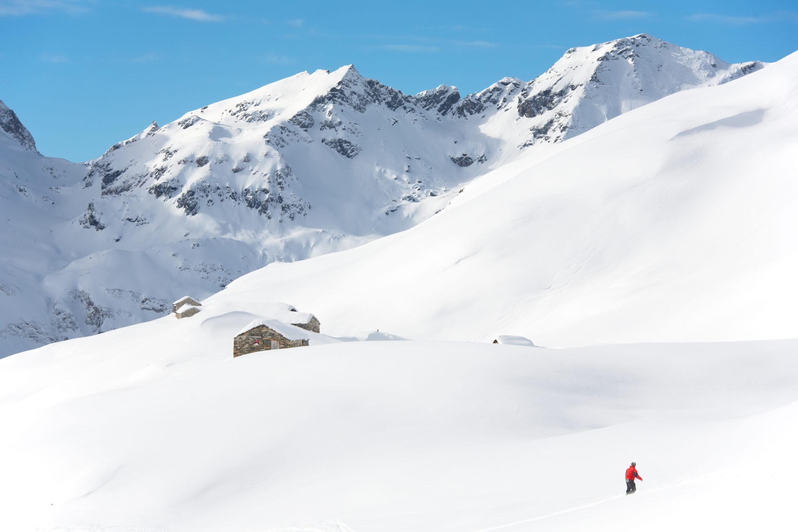
{"type": "Polygon", "coordinates": [[[532,119],[523,146],[566,140],[669,94],[763,67],[760,61],[732,65],[646,33],[571,48],[521,89],[518,114],[532,119]]]}

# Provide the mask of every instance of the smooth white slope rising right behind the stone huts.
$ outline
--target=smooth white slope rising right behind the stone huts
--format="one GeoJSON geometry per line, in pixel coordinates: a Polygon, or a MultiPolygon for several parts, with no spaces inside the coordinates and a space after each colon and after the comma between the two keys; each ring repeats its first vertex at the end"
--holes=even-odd
{"type": "Polygon", "coordinates": [[[535,345],[798,337],[798,53],[671,95],[517,160],[439,215],[354,250],[270,264],[328,333],[535,345]]]}

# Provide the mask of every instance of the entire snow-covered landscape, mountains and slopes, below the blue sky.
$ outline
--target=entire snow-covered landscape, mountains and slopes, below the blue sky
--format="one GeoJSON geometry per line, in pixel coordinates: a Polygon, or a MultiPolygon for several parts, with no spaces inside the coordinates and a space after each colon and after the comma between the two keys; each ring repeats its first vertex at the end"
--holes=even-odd
{"type": "Polygon", "coordinates": [[[0,112],[4,349],[76,336],[0,360],[0,530],[789,530],[798,53],[681,50],[569,51],[532,116],[304,73],[87,164],[0,112]]]}

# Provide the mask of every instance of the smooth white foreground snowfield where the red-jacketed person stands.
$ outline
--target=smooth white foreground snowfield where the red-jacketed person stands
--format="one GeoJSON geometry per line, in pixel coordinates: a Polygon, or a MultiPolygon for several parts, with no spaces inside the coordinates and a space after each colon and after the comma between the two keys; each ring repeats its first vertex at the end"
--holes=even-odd
{"type": "Polygon", "coordinates": [[[310,347],[234,359],[233,335],[268,309],[203,307],[0,361],[0,529],[792,519],[798,341],[534,349],[308,332],[310,347]],[[645,480],[625,497],[632,460],[645,480]]]}

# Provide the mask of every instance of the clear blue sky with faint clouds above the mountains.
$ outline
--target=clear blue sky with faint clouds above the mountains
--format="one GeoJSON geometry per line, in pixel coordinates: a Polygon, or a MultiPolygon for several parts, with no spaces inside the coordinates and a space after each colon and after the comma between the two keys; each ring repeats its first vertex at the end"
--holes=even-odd
{"type": "Polygon", "coordinates": [[[651,33],[729,62],[798,49],[798,1],[0,0],[0,100],[45,155],[100,156],[152,120],[354,63],[405,93],[529,80],[571,46],[651,33]]]}

